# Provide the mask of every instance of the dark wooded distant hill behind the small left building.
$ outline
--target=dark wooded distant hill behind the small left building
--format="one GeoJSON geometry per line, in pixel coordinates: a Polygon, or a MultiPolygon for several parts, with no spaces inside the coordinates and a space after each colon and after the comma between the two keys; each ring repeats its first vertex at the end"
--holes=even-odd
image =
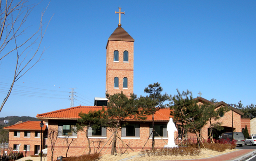
{"type": "Polygon", "coordinates": [[[37,118],[32,118],[29,116],[7,116],[5,118],[0,118],[0,125],[4,125],[4,120],[8,120],[9,123],[6,126],[11,126],[13,124],[16,124],[19,121],[26,122],[26,121],[40,121],[37,118]]]}

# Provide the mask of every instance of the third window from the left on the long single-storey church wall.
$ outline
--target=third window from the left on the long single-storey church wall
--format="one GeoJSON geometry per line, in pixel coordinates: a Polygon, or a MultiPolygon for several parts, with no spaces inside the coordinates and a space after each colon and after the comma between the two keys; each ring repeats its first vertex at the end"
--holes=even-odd
{"type": "Polygon", "coordinates": [[[123,126],[121,137],[140,137],[140,124],[127,124],[123,126]]]}

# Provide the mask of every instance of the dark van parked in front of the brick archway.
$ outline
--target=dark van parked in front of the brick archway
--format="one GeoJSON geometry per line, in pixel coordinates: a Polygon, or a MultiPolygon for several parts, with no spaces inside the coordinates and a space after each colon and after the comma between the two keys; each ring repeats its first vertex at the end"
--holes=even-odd
{"type": "MultiPolygon", "coordinates": [[[[232,140],[232,132],[225,132],[222,133],[221,139],[224,139],[227,142],[231,142],[232,140]]],[[[234,132],[234,140],[236,141],[236,145],[239,145],[240,147],[243,146],[244,143],[244,136],[242,132],[234,132]]]]}

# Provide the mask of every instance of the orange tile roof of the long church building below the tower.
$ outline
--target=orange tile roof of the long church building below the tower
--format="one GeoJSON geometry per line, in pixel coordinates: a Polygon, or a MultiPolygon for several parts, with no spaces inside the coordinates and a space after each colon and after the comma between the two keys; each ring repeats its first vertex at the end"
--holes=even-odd
{"type": "MultiPolygon", "coordinates": [[[[89,111],[98,111],[101,110],[102,106],[76,106],[70,107],[66,109],[61,109],[57,111],[51,111],[47,113],[37,114],[36,118],[38,119],[72,119],[76,120],[80,118],[78,114],[80,112],[88,113],[89,111]]],[[[160,109],[156,111],[154,118],[155,121],[169,121],[170,118],[170,110],[169,109],[160,109]]],[[[133,120],[133,119],[129,119],[133,120]]],[[[146,121],[152,120],[152,116],[148,116],[146,121]]]]}

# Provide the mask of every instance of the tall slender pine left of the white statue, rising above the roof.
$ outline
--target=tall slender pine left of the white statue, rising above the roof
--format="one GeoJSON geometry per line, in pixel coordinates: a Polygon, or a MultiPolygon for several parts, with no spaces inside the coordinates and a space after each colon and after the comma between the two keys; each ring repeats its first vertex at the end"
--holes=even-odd
{"type": "Polygon", "coordinates": [[[160,108],[167,107],[167,104],[164,104],[166,100],[169,100],[169,96],[167,93],[161,94],[162,87],[160,86],[160,83],[154,83],[148,85],[144,89],[145,93],[148,93],[149,95],[146,97],[141,96],[140,97],[140,106],[147,109],[147,113],[149,115],[152,115],[152,149],[155,149],[155,127],[154,127],[154,114],[157,110],[160,108]]]}

